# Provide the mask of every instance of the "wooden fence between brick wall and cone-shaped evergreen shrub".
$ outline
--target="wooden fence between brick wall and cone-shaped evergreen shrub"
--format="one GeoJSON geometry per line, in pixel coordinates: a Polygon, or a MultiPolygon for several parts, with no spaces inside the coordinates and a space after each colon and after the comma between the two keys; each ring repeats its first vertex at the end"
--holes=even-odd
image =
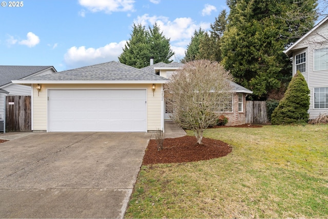
{"type": "Polygon", "coordinates": [[[267,106],[265,101],[246,101],[246,123],[268,123],[267,106]]]}

